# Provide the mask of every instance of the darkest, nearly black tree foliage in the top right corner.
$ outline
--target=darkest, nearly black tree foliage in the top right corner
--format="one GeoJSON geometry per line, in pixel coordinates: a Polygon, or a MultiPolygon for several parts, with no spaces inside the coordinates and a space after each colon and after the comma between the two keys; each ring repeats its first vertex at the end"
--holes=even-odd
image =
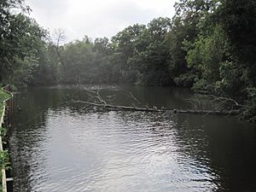
{"type": "Polygon", "coordinates": [[[256,85],[256,2],[223,0],[216,18],[230,39],[232,52],[238,56],[247,86],[256,85]]]}

